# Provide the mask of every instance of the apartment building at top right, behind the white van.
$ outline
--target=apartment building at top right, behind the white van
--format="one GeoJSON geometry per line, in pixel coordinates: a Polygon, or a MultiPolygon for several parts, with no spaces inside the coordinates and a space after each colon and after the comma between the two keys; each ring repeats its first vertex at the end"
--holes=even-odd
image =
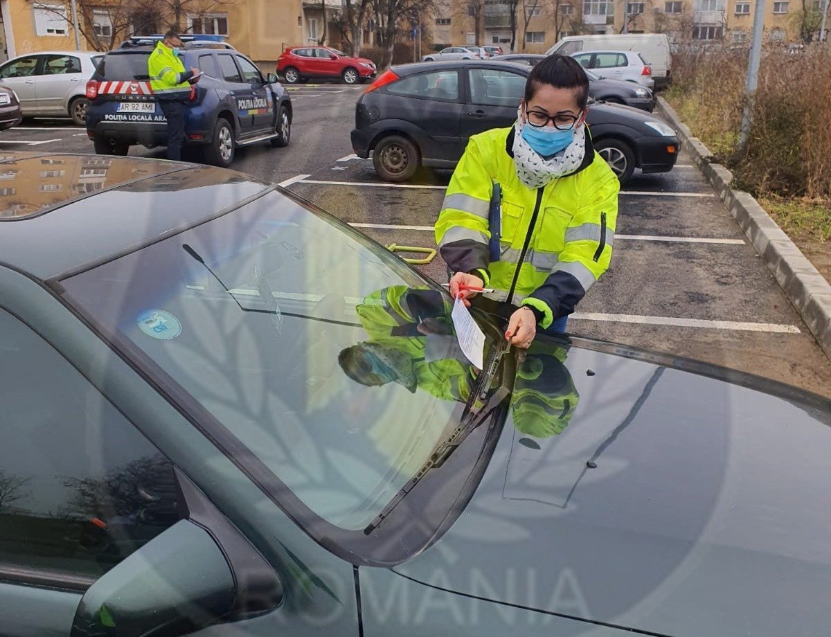
{"type": "MultiPolygon", "coordinates": [[[[508,51],[542,53],[561,37],[589,33],[666,33],[671,42],[750,40],[756,0],[443,0],[435,5],[436,46],[498,44],[508,51]],[[515,17],[512,19],[512,7],[515,17]]],[[[824,0],[809,0],[815,4],[824,0]]],[[[765,36],[799,37],[802,0],[765,2],[765,36]]]]}

